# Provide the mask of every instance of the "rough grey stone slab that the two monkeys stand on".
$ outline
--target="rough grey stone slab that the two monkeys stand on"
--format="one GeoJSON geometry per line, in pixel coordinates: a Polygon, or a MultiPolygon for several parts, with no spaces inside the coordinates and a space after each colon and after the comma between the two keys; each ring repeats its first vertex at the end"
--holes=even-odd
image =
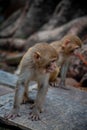
{"type": "MultiPolygon", "coordinates": [[[[5,120],[4,114],[12,108],[14,93],[1,96],[0,120],[25,130],[87,130],[87,92],[68,87],[70,90],[49,88],[40,121],[28,119],[30,104],[21,105],[21,117],[5,120]]],[[[35,98],[36,90],[32,90],[30,96],[35,98]]]]}

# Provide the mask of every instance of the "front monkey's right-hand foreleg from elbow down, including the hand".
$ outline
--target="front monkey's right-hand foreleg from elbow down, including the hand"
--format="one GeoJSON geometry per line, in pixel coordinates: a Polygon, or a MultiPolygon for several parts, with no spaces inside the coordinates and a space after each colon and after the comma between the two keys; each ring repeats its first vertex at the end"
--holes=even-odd
{"type": "Polygon", "coordinates": [[[46,86],[40,86],[38,90],[36,101],[32,107],[32,112],[30,113],[30,118],[32,119],[32,121],[37,121],[40,119],[40,113],[42,112],[42,106],[46,97],[47,90],[48,84],[46,86]]]}

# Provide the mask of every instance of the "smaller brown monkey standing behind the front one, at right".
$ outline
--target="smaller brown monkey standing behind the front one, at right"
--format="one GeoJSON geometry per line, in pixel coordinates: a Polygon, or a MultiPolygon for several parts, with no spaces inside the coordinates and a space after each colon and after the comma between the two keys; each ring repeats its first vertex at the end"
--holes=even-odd
{"type": "Polygon", "coordinates": [[[59,55],[57,66],[58,68],[61,68],[61,80],[58,84],[57,76],[59,74],[59,69],[57,68],[55,72],[51,74],[49,82],[52,86],[68,89],[65,87],[65,80],[68,67],[70,65],[71,56],[74,55],[76,50],[81,47],[82,41],[76,35],[66,35],[62,40],[52,42],[50,45],[56,49],[59,55]]]}

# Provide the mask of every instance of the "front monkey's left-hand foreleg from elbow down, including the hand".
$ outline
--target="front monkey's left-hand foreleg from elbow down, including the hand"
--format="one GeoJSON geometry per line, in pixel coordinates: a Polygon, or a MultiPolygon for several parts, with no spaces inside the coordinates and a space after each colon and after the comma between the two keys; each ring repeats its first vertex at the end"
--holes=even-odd
{"type": "Polygon", "coordinates": [[[17,83],[13,109],[11,110],[11,112],[5,115],[5,119],[14,119],[17,116],[20,116],[19,109],[23,95],[24,95],[24,86],[22,85],[22,83],[17,83]]]}

